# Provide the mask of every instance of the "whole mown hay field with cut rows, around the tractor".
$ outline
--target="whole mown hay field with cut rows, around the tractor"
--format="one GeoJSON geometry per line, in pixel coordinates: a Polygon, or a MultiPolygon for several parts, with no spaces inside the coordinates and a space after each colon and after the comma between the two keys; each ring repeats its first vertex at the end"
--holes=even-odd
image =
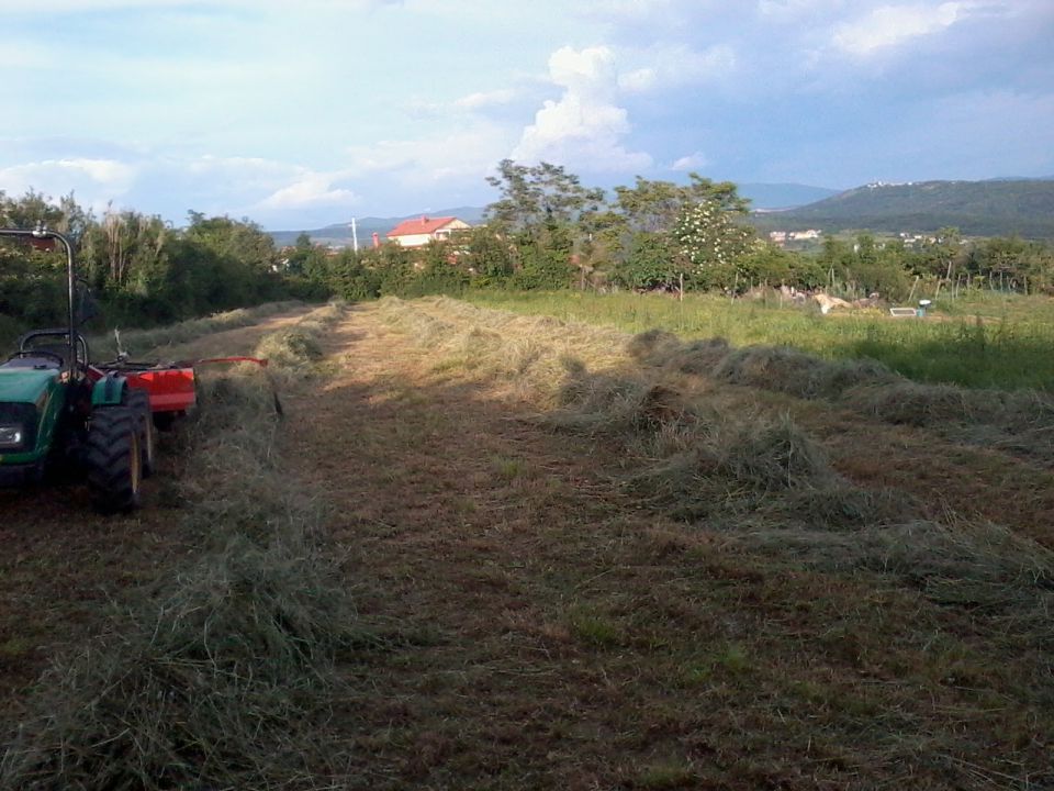
{"type": "Polygon", "coordinates": [[[284,417],[237,369],[144,510],[0,491],[0,788],[1054,787],[1054,401],[625,299],[181,335],[284,417]]]}

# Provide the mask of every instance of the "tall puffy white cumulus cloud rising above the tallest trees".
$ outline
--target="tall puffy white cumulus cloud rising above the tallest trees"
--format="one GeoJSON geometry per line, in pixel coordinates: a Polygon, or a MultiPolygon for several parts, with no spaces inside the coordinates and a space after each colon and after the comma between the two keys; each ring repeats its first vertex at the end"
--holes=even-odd
{"type": "Polygon", "coordinates": [[[608,47],[562,47],[549,58],[549,76],[561,86],[558,101],[546,101],[535,123],[524,130],[513,158],[548,160],[594,171],[632,171],[651,167],[651,156],[621,144],[629,133],[628,113],[617,107],[618,74],[608,47]]]}

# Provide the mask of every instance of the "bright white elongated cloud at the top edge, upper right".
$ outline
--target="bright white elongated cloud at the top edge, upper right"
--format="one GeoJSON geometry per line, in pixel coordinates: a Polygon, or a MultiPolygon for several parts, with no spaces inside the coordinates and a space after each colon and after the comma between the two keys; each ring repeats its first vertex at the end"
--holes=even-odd
{"type": "Polygon", "coordinates": [[[863,19],[838,25],[834,46],[851,55],[871,55],[911,38],[939,33],[963,19],[974,5],[972,2],[882,5],[863,19]]]}

